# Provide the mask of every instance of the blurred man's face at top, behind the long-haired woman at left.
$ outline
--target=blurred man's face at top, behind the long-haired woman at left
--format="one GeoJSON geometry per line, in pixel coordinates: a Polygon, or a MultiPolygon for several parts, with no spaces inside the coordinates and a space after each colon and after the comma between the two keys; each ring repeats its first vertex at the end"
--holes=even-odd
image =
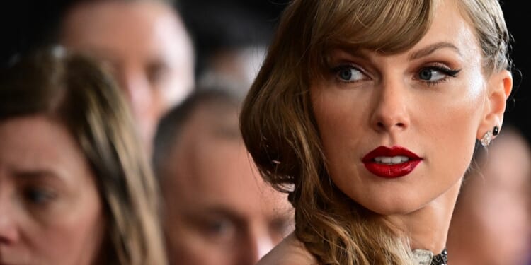
{"type": "Polygon", "coordinates": [[[160,117],[193,88],[193,48],[181,19],[159,1],[77,4],[63,21],[62,43],[101,59],[130,101],[151,148],[160,117]]]}

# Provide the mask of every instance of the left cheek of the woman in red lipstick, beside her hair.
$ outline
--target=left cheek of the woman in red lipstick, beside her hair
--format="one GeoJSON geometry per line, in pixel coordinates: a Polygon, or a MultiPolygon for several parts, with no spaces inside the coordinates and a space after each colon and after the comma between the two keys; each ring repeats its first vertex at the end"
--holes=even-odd
{"type": "Polygon", "coordinates": [[[326,89],[312,88],[311,96],[327,171],[343,192],[355,196],[361,193],[360,185],[352,185],[362,175],[360,146],[367,145],[372,130],[368,125],[369,108],[365,100],[360,100],[368,95],[353,97],[326,89]]]}

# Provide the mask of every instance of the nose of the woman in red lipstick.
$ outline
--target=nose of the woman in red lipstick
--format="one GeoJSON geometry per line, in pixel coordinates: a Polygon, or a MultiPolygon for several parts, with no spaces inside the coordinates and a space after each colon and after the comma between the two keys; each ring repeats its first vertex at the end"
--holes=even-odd
{"type": "Polygon", "coordinates": [[[384,80],[376,91],[372,98],[375,102],[370,118],[372,128],[378,132],[406,129],[410,124],[411,103],[404,81],[400,78],[384,80]]]}

